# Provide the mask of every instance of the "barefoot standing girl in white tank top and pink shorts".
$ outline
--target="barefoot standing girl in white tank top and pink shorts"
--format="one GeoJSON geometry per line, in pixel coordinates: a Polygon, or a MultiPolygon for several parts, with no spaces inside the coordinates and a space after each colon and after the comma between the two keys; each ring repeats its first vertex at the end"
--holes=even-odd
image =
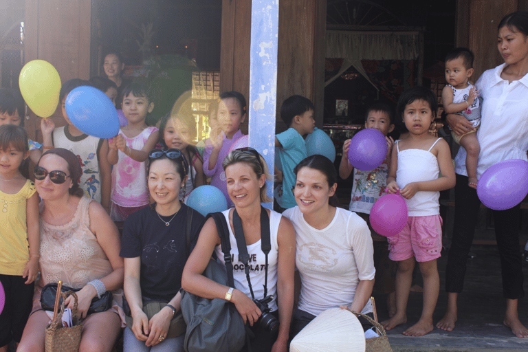
{"type": "Polygon", "coordinates": [[[407,300],[415,261],[423,276],[423,309],[420,320],[404,331],[406,336],[423,336],[433,329],[440,279],[437,259],[442,248],[439,191],[454,186],[454,168],[447,142],[428,133],[437,115],[438,103],[430,89],[413,87],[399,98],[397,115],[409,135],[393,148],[387,191],[404,197],[409,211],[404,230],[388,238],[389,258],[397,261],[396,314],[382,322],[390,330],[407,322],[407,300]],[[441,177],[439,177],[441,173],[441,177]]]}

